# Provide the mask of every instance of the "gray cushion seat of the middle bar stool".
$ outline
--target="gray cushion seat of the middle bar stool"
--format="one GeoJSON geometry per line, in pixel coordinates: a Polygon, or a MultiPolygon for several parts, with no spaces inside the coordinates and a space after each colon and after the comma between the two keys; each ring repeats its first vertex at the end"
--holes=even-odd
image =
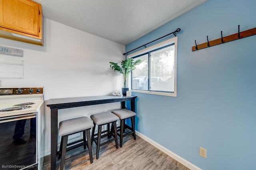
{"type": "Polygon", "coordinates": [[[96,113],[91,115],[91,119],[94,121],[96,125],[103,125],[106,123],[117,121],[119,120],[119,117],[117,117],[110,111],[106,111],[106,112],[96,113]]]}

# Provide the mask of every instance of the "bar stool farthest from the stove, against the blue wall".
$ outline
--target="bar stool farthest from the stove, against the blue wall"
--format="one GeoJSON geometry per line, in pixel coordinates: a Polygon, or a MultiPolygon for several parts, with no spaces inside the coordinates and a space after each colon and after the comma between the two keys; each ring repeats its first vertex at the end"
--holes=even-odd
{"type": "Polygon", "coordinates": [[[122,148],[123,146],[123,137],[127,135],[133,135],[134,140],[136,140],[136,135],[135,135],[135,116],[136,113],[133,111],[130,111],[128,109],[114,109],[111,111],[115,115],[117,115],[120,119],[120,127],[118,127],[118,131],[120,130],[120,134],[118,133],[117,135],[120,136],[120,147],[122,148]],[[132,127],[128,126],[125,124],[125,120],[130,118],[132,127]],[[124,130],[129,129],[130,132],[124,134],[124,130]]]}

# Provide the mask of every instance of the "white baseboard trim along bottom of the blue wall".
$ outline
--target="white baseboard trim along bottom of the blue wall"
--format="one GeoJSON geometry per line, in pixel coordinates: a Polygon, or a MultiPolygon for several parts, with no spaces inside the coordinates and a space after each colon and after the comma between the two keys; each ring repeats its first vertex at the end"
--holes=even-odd
{"type": "Polygon", "coordinates": [[[154,147],[156,147],[157,149],[161,150],[162,152],[166,153],[167,155],[169,155],[170,157],[174,158],[175,160],[177,160],[178,162],[180,162],[181,164],[183,164],[184,166],[186,166],[187,168],[191,169],[191,170],[202,170],[200,168],[198,168],[197,166],[195,166],[194,164],[188,162],[187,160],[185,160],[184,158],[178,156],[177,154],[175,154],[174,152],[166,149],[165,147],[163,147],[162,145],[159,145],[158,143],[156,143],[155,141],[153,141],[152,139],[146,137],[145,135],[143,135],[142,133],[136,131],[136,135],[138,135],[139,137],[141,137],[142,139],[144,139],[145,141],[147,141],[148,143],[150,143],[151,145],[153,145],[154,147]]]}

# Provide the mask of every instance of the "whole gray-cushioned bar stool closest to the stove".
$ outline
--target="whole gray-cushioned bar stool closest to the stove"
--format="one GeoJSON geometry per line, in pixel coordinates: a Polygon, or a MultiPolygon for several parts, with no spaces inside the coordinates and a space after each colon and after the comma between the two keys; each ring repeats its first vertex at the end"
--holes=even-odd
{"type": "Polygon", "coordinates": [[[90,138],[90,129],[93,127],[92,120],[89,117],[77,117],[73,119],[68,119],[61,121],[59,124],[59,136],[61,136],[61,141],[60,141],[60,154],[58,158],[61,157],[60,161],[60,170],[63,170],[64,168],[64,163],[65,163],[65,157],[66,157],[66,151],[74,149],[76,147],[84,145],[84,149],[86,149],[86,145],[88,147],[89,151],[89,156],[90,156],[90,162],[92,163],[92,143],[91,143],[91,138],[90,138]],[[83,132],[83,140],[76,141],[73,143],[68,144],[68,136],[83,132]],[[87,141],[85,137],[85,133],[87,136],[87,141]],[[78,142],[81,142],[75,146],[69,147],[67,149],[67,146],[76,144],[78,142]]]}

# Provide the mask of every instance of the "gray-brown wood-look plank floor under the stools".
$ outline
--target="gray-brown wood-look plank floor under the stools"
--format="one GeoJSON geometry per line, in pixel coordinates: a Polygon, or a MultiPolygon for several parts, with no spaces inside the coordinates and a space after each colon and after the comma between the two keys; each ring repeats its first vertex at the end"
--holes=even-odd
{"type": "MultiPolygon", "coordinates": [[[[122,148],[116,149],[114,141],[100,147],[98,160],[93,143],[92,164],[88,151],[83,151],[83,147],[79,147],[66,153],[65,170],[189,170],[138,136],[136,140],[131,135],[124,137],[122,148]]],[[[44,158],[43,166],[43,170],[49,169],[50,155],[44,158]]],[[[56,169],[60,169],[60,160],[57,160],[56,169]]]]}

